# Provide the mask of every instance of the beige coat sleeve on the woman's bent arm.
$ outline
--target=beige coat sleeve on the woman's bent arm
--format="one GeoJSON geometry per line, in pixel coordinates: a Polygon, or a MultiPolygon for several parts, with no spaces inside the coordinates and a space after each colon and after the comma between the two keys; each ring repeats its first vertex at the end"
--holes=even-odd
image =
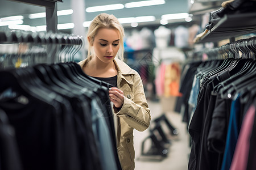
{"type": "Polygon", "coordinates": [[[133,81],[134,100],[124,96],[125,100],[122,108],[119,111],[114,108],[114,112],[117,116],[122,117],[131,128],[144,131],[150,125],[150,109],[148,108],[142,80],[138,73],[134,75],[133,81]]]}

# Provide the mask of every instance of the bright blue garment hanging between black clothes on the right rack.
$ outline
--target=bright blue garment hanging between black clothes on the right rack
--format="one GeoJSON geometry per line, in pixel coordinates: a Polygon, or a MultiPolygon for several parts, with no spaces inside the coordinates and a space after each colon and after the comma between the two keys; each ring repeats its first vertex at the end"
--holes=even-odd
{"type": "Polygon", "coordinates": [[[229,170],[230,165],[232,163],[232,158],[234,150],[236,149],[239,134],[238,120],[240,117],[240,107],[241,103],[238,95],[231,105],[228,133],[226,137],[226,146],[224,151],[224,157],[222,160],[221,170],[229,170]]]}

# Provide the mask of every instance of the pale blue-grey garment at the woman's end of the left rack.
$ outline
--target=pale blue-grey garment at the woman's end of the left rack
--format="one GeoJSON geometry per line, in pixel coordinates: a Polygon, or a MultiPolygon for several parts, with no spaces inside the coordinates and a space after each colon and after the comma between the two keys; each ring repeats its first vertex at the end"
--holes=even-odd
{"type": "Polygon", "coordinates": [[[110,132],[108,125],[106,124],[104,113],[102,113],[102,109],[96,99],[91,101],[91,105],[93,134],[97,141],[102,168],[106,170],[117,170],[113,143],[110,139],[110,132]]]}

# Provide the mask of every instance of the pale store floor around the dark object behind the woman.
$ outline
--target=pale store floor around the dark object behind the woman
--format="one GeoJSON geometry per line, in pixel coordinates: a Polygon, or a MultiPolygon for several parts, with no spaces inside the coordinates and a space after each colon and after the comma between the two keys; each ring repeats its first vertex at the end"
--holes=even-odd
{"type": "MultiPolygon", "coordinates": [[[[151,120],[163,114],[163,103],[148,101],[151,111],[151,120]]],[[[134,148],[135,148],[135,170],[186,170],[188,169],[188,156],[190,153],[189,134],[187,125],[181,121],[182,116],[179,113],[167,111],[164,113],[173,126],[179,131],[177,136],[170,135],[170,130],[163,124],[164,134],[170,139],[171,145],[168,147],[167,157],[162,160],[162,156],[143,156],[141,155],[142,142],[150,134],[150,128],[154,127],[151,121],[150,128],[140,132],[134,130],[134,148]],[[160,159],[159,159],[160,158],[160,159]]],[[[149,150],[151,140],[144,142],[144,152],[149,150]]]]}

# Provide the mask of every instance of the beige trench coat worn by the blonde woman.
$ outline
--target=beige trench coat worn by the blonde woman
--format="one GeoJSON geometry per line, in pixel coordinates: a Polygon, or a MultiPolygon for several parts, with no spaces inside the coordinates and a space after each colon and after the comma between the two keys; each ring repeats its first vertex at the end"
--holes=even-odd
{"type": "MultiPolygon", "coordinates": [[[[84,67],[87,59],[79,62],[84,67]]],[[[131,69],[126,63],[115,58],[117,65],[117,87],[124,93],[125,100],[122,108],[118,111],[114,108],[117,116],[117,150],[123,170],[135,168],[133,129],[144,131],[150,125],[150,109],[144,95],[141,76],[131,69]]]]}

